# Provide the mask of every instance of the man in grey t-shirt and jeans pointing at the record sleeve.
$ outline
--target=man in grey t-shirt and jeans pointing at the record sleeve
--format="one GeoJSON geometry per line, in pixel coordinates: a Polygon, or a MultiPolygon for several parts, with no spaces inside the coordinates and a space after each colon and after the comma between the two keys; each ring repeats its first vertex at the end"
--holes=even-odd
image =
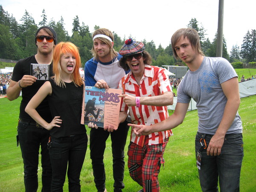
{"type": "Polygon", "coordinates": [[[175,112],[166,120],[134,125],[134,133],[148,135],[177,127],[183,122],[191,98],[198,108],[195,156],[202,191],[239,191],[243,160],[242,123],[238,79],[224,58],[205,57],[195,29],[172,35],[172,50],[189,67],[177,90],[175,112]]]}

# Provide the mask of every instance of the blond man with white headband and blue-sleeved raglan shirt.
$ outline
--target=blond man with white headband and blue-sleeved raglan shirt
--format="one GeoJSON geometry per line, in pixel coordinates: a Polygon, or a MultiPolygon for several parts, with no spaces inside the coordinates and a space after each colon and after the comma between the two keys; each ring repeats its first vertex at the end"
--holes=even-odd
{"type": "MultiPolygon", "coordinates": [[[[84,66],[86,86],[117,89],[119,80],[127,73],[119,67],[119,60],[122,56],[113,49],[113,41],[113,33],[108,29],[97,29],[93,33],[93,48],[91,50],[93,58],[87,61],[84,66]]],[[[114,192],[120,192],[125,187],[123,183],[125,170],[124,149],[128,129],[129,126],[125,121],[120,123],[116,131],[105,131],[103,128],[95,128],[94,126],[90,130],[90,158],[92,160],[94,182],[98,192],[106,192],[103,155],[109,135],[111,135],[112,142],[114,192]]]]}

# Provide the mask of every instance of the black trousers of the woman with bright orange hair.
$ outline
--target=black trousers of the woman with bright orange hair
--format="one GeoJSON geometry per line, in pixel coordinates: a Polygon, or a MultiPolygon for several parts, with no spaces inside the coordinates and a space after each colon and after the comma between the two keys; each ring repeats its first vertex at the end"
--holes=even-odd
{"type": "Polygon", "coordinates": [[[52,192],[63,191],[66,172],[69,191],[81,191],[80,173],[87,150],[87,141],[87,134],[51,137],[49,154],[52,162],[52,192]]]}

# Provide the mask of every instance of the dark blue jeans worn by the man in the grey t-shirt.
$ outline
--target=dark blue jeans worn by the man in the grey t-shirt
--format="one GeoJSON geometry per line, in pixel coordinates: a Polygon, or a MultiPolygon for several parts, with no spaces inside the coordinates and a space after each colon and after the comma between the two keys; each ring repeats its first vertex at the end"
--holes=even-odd
{"type": "MultiPolygon", "coordinates": [[[[200,139],[204,134],[197,133],[195,137],[195,154],[201,148],[200,139]]],[[[213,135],[204,137],[207,146],[213,135]]],[[[202,141],[203,143],[203,141],[202,141]]],[[[201,189],[204,192],[218,191],[239,192],[240,172],[244,157],[242,134],[226,134],[221,154],[208,156],[207,149],[201,151],[201,169],[198,169],[201,189]]]]}

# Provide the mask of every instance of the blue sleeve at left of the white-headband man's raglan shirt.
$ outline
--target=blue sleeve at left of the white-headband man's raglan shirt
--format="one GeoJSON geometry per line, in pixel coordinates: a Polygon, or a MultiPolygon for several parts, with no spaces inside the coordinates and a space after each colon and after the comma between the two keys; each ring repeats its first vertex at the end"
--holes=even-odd
{"type": "Polygon", "coordinates": [[[84,80],[86,86],[94,86],[96,84],[96,80],[94,79],[96,69],[97,69],[97,61],[91,58],[84,65],[84,80]]]}

